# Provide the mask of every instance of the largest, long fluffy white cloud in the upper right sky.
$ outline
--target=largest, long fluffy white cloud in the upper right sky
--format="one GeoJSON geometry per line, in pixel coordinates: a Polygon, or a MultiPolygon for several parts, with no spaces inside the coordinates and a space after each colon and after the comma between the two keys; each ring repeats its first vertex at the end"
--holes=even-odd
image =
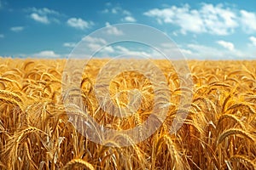
{"type": "Polygon", "coordinates": [[[177,25],[183,34],[190,31],[228,35],[238,26],[236,14],[230,8],[224,8],[222,4],[213,6],[203,3],[199,9],[190,8],[188,4],[180,8],[176,6],[153,8],[145,12],[144,15],[155,18],[159,24],[177,25]]]}

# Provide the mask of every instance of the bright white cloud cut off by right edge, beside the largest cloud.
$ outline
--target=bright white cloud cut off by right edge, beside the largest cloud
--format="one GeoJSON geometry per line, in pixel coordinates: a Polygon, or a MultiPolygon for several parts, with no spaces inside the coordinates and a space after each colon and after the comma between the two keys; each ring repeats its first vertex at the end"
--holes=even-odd
{"type": "Polygon", "coordinates": [[[241,10],[241,26],[247,33],[256,32],[256,14],[241,10]]]}

